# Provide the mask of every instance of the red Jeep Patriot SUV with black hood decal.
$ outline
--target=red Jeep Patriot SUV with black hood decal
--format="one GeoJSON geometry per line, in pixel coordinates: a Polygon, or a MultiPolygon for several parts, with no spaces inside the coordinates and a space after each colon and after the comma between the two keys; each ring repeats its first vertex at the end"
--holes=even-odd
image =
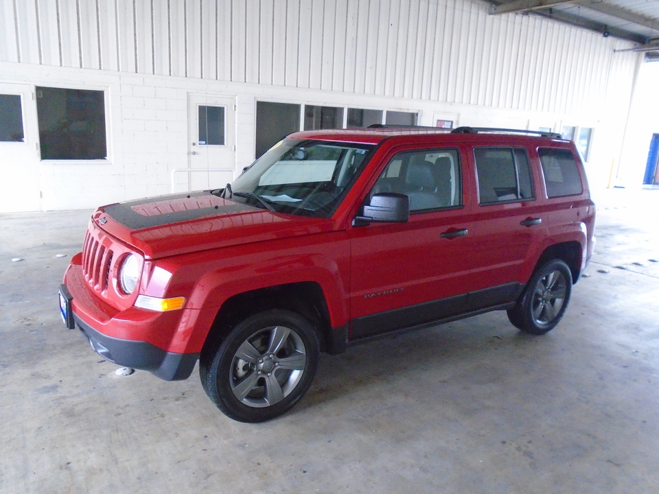
{"type": "MultiPolygon", "coordinates": [[[[537,134],[537,135],[529,135],[537,134]]],[[[483,128],[290,134],[223,189],[110,204],[60,287],[97,353],[259,422],[319,352],[505,309],[546,333],[594,246],[574,143],[483,128]]]]}

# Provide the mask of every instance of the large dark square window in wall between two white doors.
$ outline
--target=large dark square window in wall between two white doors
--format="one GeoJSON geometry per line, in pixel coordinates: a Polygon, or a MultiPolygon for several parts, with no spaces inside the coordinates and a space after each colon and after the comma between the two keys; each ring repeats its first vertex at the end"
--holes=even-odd
{"type": "Polygon", "coordinates": [[[103,91],[36,88],[41,159],[104,159],[103,91]]]}

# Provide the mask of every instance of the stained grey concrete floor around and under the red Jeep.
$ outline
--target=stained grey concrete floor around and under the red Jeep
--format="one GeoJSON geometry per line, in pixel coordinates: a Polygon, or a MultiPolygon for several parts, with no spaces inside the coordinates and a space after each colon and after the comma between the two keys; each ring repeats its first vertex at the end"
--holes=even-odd
{"type": "Polygon", "coordinates": [[[496,312],[323,355],[259,425],[197,373],[115,377],[64,329],[89,211],[0,215],[0,492],[659,492],[659,190],[597,200],[596,255],[551,333],[496,312]]]}

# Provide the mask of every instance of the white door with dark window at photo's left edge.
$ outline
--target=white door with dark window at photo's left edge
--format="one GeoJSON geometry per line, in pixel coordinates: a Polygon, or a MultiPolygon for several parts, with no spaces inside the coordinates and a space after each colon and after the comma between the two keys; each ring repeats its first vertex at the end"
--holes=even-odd
{"type": "Polygon", "coordinates": [[[41,210],[37,142],[32,87],[0,83],[0,213],[41,210]]]}

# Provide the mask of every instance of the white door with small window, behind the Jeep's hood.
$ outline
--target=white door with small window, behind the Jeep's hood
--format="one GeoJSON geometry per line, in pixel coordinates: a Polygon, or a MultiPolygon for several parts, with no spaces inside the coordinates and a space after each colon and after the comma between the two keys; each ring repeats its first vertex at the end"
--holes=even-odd
{"type": "Polygon", "coordinates": [[[176,191],[219,189],[235,176],[233,98],[189,95],[189,172],[179,174],[176,191]]]}

